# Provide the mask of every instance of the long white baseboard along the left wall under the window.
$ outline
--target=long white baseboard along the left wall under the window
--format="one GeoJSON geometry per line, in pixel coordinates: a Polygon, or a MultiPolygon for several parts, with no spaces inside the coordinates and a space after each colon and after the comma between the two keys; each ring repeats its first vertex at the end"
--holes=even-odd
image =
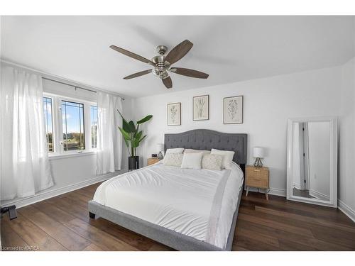
{"type": "Polygon", "coordinates": [[[81,189],[82,187],[87,187],[91,184],[96,184],[98,182],[105,181],[107,179],[110,179],[111,177],[118,175],[118,174],[123,174],[124,172],[127,172],[127,170],[121,170],[121,171],[117,171],[114,173],[102,174],[99,177],[94,177],[92,179],[88,179],[88,180],[85,180],[85,181],[82,181],[82,182],[79,182],[76,184],[70,184],[68,186],[60,187],[58,189],[51,189],[48,191],[40,192],[38,194],[35,194],[33,196],[28,196],[23,199],[13,199],[11,201],[6,201],[6,204],[4,204],[4,206],[16,205],[16,209],[19,209],[21,207],[24,207],[24,206],[27,206],[30,204],[34,204],[38,201],[43,201],[45,199],[53,198],[53,196],[59,196],[61,194],[65,194],[67,192],[72,192],[73,190],[76,190],[76,189],[81,189]]]}

